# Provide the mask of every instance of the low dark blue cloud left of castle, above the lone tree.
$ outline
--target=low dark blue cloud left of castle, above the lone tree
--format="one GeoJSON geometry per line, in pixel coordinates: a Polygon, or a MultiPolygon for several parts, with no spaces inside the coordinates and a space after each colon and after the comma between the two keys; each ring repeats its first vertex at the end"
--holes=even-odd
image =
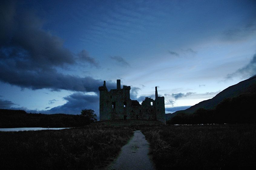
{"type": "Polygon", "coordinates": [[[82,109],[92,109],[97,115],[99,115],[98,95],[87,95],[77,92],[64,97],[64,99],[67,100],[67,103],[64,105],[42,111],[42,113],[80,114],[82,109]]]}

